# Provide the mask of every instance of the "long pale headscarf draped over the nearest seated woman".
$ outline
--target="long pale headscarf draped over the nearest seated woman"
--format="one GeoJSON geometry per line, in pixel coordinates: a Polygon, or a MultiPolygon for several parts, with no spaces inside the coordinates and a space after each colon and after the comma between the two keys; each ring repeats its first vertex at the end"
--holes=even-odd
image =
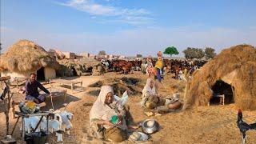
{"type": "Polygon", "coordinates": [[[105,104],[106,95],[110,92],[114,93],[111,86],[102,86],[101,92],[98,94],[98,98],[90,110],[90,122],[94,118],[99,120],[110,120],[112,115],[117,115],[110,106],[105,104]]]}

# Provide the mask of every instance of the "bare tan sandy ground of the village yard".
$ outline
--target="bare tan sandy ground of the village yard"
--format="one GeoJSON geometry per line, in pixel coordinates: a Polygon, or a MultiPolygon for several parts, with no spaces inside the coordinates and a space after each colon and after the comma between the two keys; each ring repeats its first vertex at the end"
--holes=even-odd
{"type": "MultiPolygon", "coordinates": [[[[108,73],[103,76],[86,76],[81,78],[69,78],[72,80],[81,80],[82,86],[86,87],[93,82],[103,80],[105,78],[120,78],[122,74],[108,73]]],[[[146,75],[140,72],[134,74],[128,74],[126,77],[141,78],[142,83],[146,83],[146,75]]],[[[170,76],[166,76],[164,82],[166,86],[160,86],[159,92],[162,95],[170,95],[172,92],[170,86],[175,84],[184,86],[184,82],[178,82],[170,76]]],[[[87,94],[89,90],[97,90],[98,88],[86,87],[81,89],[77,87],[79,91],[75,91],[71,94],[70,89],[66,87],[59,87],[63,90],[68,90],[67,102],[70,102],[67,106],[67,110],[74,114],[72,121],[74,129],[71,130],[71,135],[64,136],[63,143],[109,143],[102,142],[101,140],[90,137],[88,134],[89,130],[89,113],[91,105],[94,103],[97,97],[87,94]],[[82,90],[82,92],[80,92],[82,90]]],[[[161,129],[151,134],[151,138],[145,143],[241,143],[242,136],[236,126],[237,121],[237,108],[234,104],[226,106],[200,106],[191,110],[179,111],[170,114],[163,114],[161,116],[147,117],[142,108],[139,106],[141,94],[130,96],[128,105],[130,106],[131,114],[134,116],[135,122],[141,122],[146,118],[155,118],[161,129]]],[[[21,99],[21,96],[19,97],[21,99]]],[[[47,105],[44,109],[49,109],[50,101],[47,100],[47,105]]],[[[1,105],[2,106],[2,105],[1,105]]],[[[54,99],[54,108],[63,109],[63,99],[54,99]]],[[[244,121],[256,122],[256,111],[243,111],[244,121]]],[[[5,116],[0,113],[0,139],[5,136],[5,116]]],[[[10,127],[14,126],[14,119],[10,120],[10,127]]],[[[22,142],[20,138],[19,126],[14,131],[14,137],[18,139],[18,143],[22,142]]],[[[247,143],[256,143],[256,130],[247,132],[247,143]]],[[[56,143],[56,138],[52,136],[50,143],[56,143]]],[[[122,143],[132,143],[129,141],[122,143]]]]}

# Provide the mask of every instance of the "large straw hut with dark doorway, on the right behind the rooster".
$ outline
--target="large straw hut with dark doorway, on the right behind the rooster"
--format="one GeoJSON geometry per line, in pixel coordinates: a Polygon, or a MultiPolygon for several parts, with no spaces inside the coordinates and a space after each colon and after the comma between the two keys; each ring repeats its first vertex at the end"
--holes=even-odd
{"type": "MultiPolygon", "coordinates": [[[[183,109],[207,106],[214,94],[224,94],[243,110],[256,110],[256,49],[232,46],[196,70],[188,84],[183,109]]],[[[216,98],[216,97],[215,97],[216,98]]],[[[218,98],[218,97],[217,97],[218,98]]]]}

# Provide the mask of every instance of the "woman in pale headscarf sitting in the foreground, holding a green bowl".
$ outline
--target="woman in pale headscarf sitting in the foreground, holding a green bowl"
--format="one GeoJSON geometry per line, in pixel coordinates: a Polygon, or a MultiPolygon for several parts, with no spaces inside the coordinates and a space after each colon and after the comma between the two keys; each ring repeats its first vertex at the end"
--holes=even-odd
{"type": "Polygon", "coordinates": [[[120,105],[114,99],[114,91],[111,86],[102,86],[96,102],[90,110],[90,127],[94,137],[104,138],[113,142],[122,142],[127,138],[128,128],[133,118],[126,107],[120,105]],[[118,124],[113,124],[111,118],[118,116],[118,124]]]}

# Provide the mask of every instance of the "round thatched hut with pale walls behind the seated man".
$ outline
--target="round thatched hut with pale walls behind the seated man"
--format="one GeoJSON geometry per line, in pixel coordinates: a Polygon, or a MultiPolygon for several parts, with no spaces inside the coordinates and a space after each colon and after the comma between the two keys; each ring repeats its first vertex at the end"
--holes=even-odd
{"type": "Polygon", "coordinates": [[[0,57],[2,76],[29,77],[30,73],[38,74],[38,80],[56,78],[58,62],[34,42],[20,40],[10,46],[0,57]]]}

